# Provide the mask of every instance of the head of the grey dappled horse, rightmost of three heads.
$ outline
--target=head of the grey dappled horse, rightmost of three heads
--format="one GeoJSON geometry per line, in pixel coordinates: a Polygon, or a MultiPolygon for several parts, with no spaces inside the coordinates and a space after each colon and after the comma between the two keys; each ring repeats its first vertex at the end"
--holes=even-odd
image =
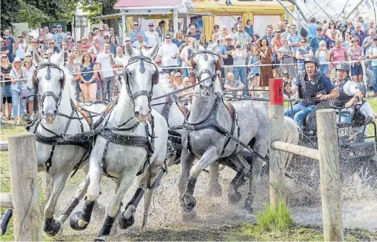
{"type": "MultiPolygon", "coordinates": [[[[196,78],[200,85],[195,90],[204,96],[214,93],[217,81],[217,70],[221,68],[220,56],[216,54],[217,43],[212,44],[205,50],[196,41],[192,43],[191,66],[195,69],[196,78]]],[[[220,83],[218,83],[220,84],[220,83]]],[[[221,88],[216,88],[220,91],[221,88]]]]}

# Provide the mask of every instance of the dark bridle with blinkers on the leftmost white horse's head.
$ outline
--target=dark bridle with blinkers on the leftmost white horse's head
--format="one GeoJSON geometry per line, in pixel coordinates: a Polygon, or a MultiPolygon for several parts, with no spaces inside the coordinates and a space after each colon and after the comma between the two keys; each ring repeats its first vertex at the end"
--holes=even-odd
{"type": "Polygon", "coordinates": [[[64,73],[63,69],[61,69],[58,65],[53,64],[53,63],[43,63],[40,66],[38,66],[38,68],[36,68],[36,70],[34,70],[32,81],[33,81],[33,88],[38,93],[38,102],[40,103],[41,107],[43,108],[43,101],[44,101],[45,98],[52,97],[53,100],[55,100],[55,102],[56,102],[56,110],[58,110],[58,107],[60,105],[61,98],[62,98],[64,85],[66,84],[66,74],[64,73]],[[59,72],[61,74],[63,74],[61,76],[61,78],[59,79],[61,86],[60,86],[60,91],[59,91],[58,95],[56,95],[55,93],[53,93],[51,91],[47,91],[46,93],[43,93],[43,95],[40,95],[40,93],[38,92],[39,79],[38,79],[38,76],[37,76],[37,72],[38,72],[38,70],[41,70],[43,68],[47,68],[46,77],[45,77],[46,80],[51,80],[51,68],[58,69],[59,72]]]}

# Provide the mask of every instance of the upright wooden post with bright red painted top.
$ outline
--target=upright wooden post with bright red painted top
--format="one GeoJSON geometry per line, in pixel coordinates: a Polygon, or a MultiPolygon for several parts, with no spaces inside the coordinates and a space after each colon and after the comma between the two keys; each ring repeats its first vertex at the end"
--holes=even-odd
{"type": "MultiPolygon", "coordinates": [[[[282,79],[269,79],[269,144],[284,141],[284,85],[282,79]]],[[[277,209],[279,201],[285,203],[284,152],[269,149],[269,202],[277,209]]]]}

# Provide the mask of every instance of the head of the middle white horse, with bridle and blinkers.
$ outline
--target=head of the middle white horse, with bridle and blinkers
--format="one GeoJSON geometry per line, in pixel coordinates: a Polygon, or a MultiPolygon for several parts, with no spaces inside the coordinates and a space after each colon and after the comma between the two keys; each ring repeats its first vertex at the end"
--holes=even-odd
{"type": "Polygon", "coordinates": [[[133,114],[139,122],[148,120],[150,101],[153,96],[153,85],[159,80],[159,71],[153,63],[157,55],[158,44],[148,51],[133,48],[130,43],[125,45],[125,53],[130,56],[128,65],[123,69],[125,88],[133,102],[133,114]]]}

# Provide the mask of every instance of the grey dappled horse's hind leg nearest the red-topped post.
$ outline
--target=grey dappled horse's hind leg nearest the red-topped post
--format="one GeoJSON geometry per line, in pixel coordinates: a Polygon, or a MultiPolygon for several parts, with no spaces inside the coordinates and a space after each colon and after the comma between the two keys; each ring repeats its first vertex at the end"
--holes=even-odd
{"type": "MultiPolygon", "coordinates": [[[[259,137],[256,138],[255,144],[253,146],[254,152],[257,152],[258,154],[262,155],[263,157],[266,157],[267,149],[268,149],[268,142],[265,142],[266,138],[262,137],[262,139],[259,137]]],[[[257,183],[260,178],[260,174],[262,172],[262,168],[264,165],[264,161],[257,157],[256,155],[253,155],[252,159],[252,178],[249,181],[249,193],[246,196],[244,208],[249,211],[249,213],[253,212],[252,209],[252,203],[254,200],[254,196],[257,192],[257,183]]]]}

